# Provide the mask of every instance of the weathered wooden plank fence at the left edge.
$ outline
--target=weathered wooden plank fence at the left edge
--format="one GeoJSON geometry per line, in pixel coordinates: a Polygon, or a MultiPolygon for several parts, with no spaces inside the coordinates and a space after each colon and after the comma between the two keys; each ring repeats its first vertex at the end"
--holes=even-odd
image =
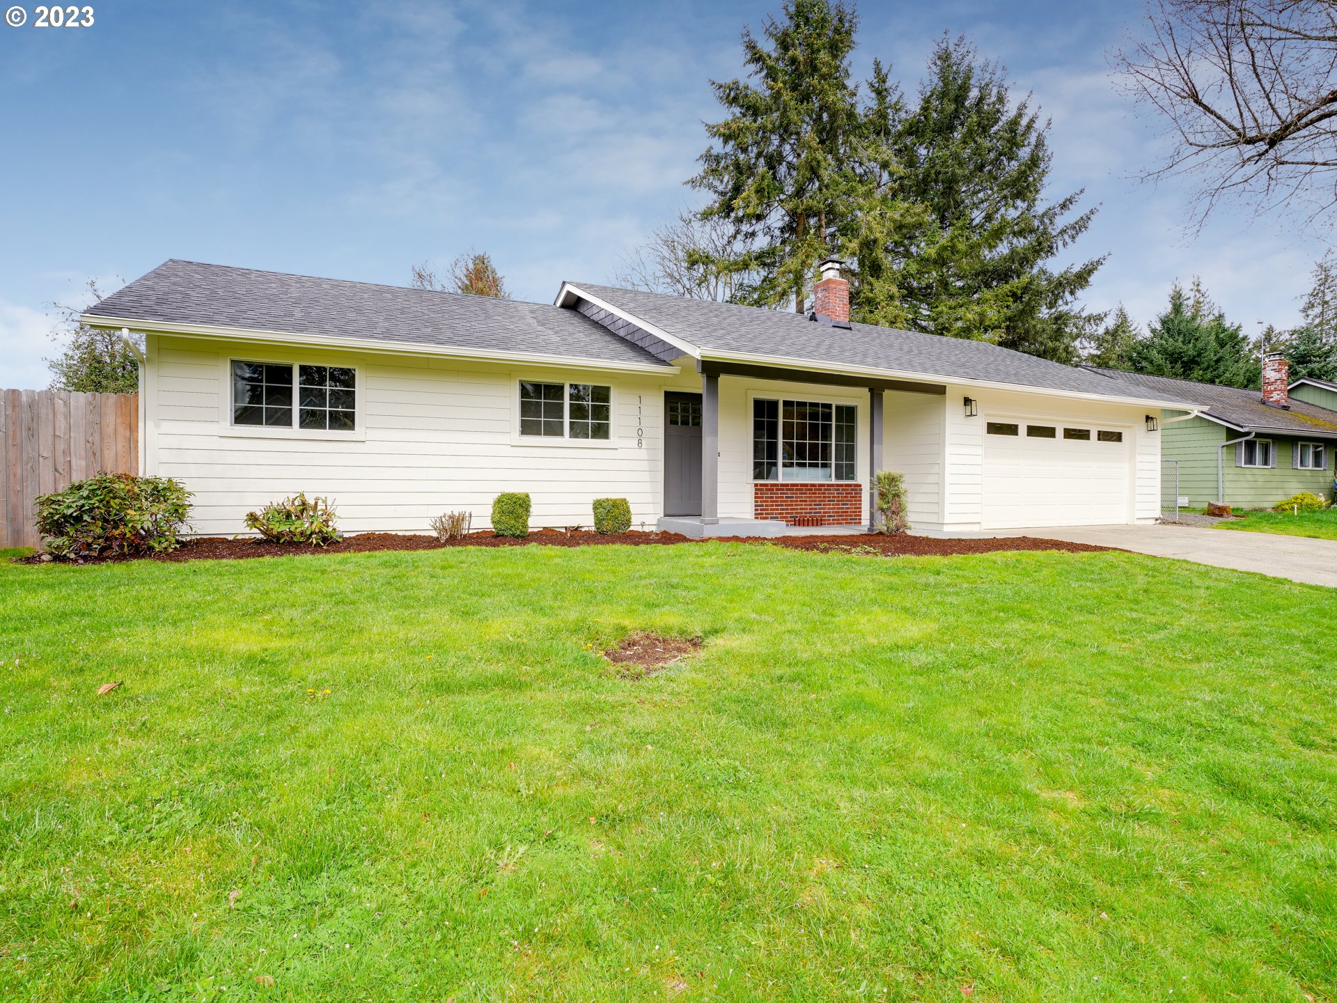
{"type": "Polygon", "coordinates": [[[98,471],[139,472],[136,395],[0,391],[0,547],[36,547],[33,499],[98,471]]]}

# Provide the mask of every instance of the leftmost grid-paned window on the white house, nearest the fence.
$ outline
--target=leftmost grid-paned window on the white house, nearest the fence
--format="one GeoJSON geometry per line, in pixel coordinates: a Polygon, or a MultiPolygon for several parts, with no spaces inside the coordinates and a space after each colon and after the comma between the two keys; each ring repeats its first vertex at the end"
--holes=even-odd
{"type": "Polygon", "coordinates": [[[352,432],[357,372],[340,365],[233,362],[233,424],[352,432]]]}

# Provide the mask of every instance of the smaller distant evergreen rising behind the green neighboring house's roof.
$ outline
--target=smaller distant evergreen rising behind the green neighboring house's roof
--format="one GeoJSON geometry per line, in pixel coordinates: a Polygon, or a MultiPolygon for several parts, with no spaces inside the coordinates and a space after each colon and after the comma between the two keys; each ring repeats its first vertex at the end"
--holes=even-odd
{"type": "Polygon", "coordinates": [[[1170,308],[1157,317],[1147,337],[1134,344],[1132,369],[1151,376],[1259,386],[1262,372],[1241,325],[1227,324],[1198,280],[1186,293],[1175,282],[1170,308]]]}

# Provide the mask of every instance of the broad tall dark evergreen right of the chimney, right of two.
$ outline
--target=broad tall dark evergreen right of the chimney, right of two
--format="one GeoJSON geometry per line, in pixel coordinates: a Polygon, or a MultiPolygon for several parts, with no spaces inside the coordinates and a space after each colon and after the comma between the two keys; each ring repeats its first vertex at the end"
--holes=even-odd
{"type": "Polygon", "coordinates": [[[896,179],[874,199],[885,206],[893,197],[902,225],[913,219],[904,206],[924,210],[923,225],[902,226],[878,262],[912,326],[1074,361],[1075,342],[1098,322],[1075,298],[1104,258],[1050,263],[1086,233],[1095,210],[1068,218],[1080,191],[1042,201],[1050,126],[1029,96],[1013,102],[1000,66],[980,60],[964,39],[944,37],[915,107],[889,102],[882,114],[896,179]]]}

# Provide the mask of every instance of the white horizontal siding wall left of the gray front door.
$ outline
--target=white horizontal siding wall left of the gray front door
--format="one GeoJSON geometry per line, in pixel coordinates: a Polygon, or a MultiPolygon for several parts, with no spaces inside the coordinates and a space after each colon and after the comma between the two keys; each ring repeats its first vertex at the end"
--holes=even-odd
{"type": "Polygon", "coordinates": [[[146,380],[146,464],[194,492],[201,534],[238,534],[250,510],[297,491],[330,499],[352,532],[421,532],[451,510],[485,527],[492,499],[528,491],[532,523],[588,526],[595,497],[626,497],[652,526],[662,507],[662,401],[694,373],[612,374],[358,353],[257,348],[156,336],[146,380]],[[353,365],[361,374],[357,437],[253,436],[226,424],[230,358],[353,365]],[[520,378],[614,386],[612,447],[516,443],[520,378]],[[636,428],[644,435],[638,445],[636,428]]]}

